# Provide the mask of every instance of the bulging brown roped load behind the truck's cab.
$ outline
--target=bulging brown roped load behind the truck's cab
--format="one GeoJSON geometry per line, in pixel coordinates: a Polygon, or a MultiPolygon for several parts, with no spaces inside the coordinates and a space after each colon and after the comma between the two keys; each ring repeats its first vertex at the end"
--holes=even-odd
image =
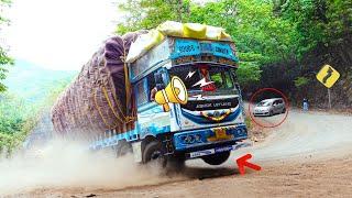
{"type": "Polygon", "coordinates": [[[122,132],[133,128],[130,82],[124,63],[131,43],[146,31],[114,36],[82,67],[52,109],[52,121],[62,133],[122,132]]]}

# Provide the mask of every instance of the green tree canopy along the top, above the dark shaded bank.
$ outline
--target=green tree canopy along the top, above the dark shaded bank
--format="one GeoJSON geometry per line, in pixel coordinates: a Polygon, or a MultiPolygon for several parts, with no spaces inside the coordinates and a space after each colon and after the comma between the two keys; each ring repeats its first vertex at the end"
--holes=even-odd
{"type": "MultiPolygon", "coordinates": [[[[352,29],[352,1],[344,0],[218,0],[201,4],[189,0],[128,0],[120,9],[127,18],[118,25],[118,33],[152,29],[166,20],[224,28],[237,44],[239,76],[244,85],[258,81],[263,66],[299,64],[317,46],[343,42],[352,29]]],[[[299,77],[298,85],[306,82],[299,77]]]]}

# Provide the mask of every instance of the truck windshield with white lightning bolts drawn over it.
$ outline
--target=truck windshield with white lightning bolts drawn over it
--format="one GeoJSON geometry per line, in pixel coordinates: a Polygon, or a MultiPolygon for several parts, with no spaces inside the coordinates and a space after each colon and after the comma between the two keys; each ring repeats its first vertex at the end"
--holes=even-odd
{"type": "Polygon", "coordinates": [[[211,64],[176,66],[170,69],[170,76],[182,78],[189,92],[207,91],[223,92],[233,90],[234,79],[231,68],[211,64]]]}

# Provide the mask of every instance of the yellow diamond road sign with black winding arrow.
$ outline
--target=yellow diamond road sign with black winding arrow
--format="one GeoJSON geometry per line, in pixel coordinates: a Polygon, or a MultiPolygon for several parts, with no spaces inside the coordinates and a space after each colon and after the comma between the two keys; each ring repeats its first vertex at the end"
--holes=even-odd
{"type": "Polygon", "coordinates": [[[340,73],[330,65],[324,65],[317,74],[317,79],[328,88],[331,88],[340,78],[340,73]]]}

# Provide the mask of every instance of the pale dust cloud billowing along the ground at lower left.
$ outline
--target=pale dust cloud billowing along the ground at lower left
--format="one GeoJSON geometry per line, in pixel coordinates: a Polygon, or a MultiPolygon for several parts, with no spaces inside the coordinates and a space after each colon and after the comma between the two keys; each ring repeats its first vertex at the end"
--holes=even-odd
{"type": "Polygon", "coordinates": [[[120,189],[180,177],[134,163],[132,155],[116,158],[112,150],[90,152],[87,144],[74,141],[55,140],[11,158],[0,158],[0,195],[51,187],[120,189]]]}

